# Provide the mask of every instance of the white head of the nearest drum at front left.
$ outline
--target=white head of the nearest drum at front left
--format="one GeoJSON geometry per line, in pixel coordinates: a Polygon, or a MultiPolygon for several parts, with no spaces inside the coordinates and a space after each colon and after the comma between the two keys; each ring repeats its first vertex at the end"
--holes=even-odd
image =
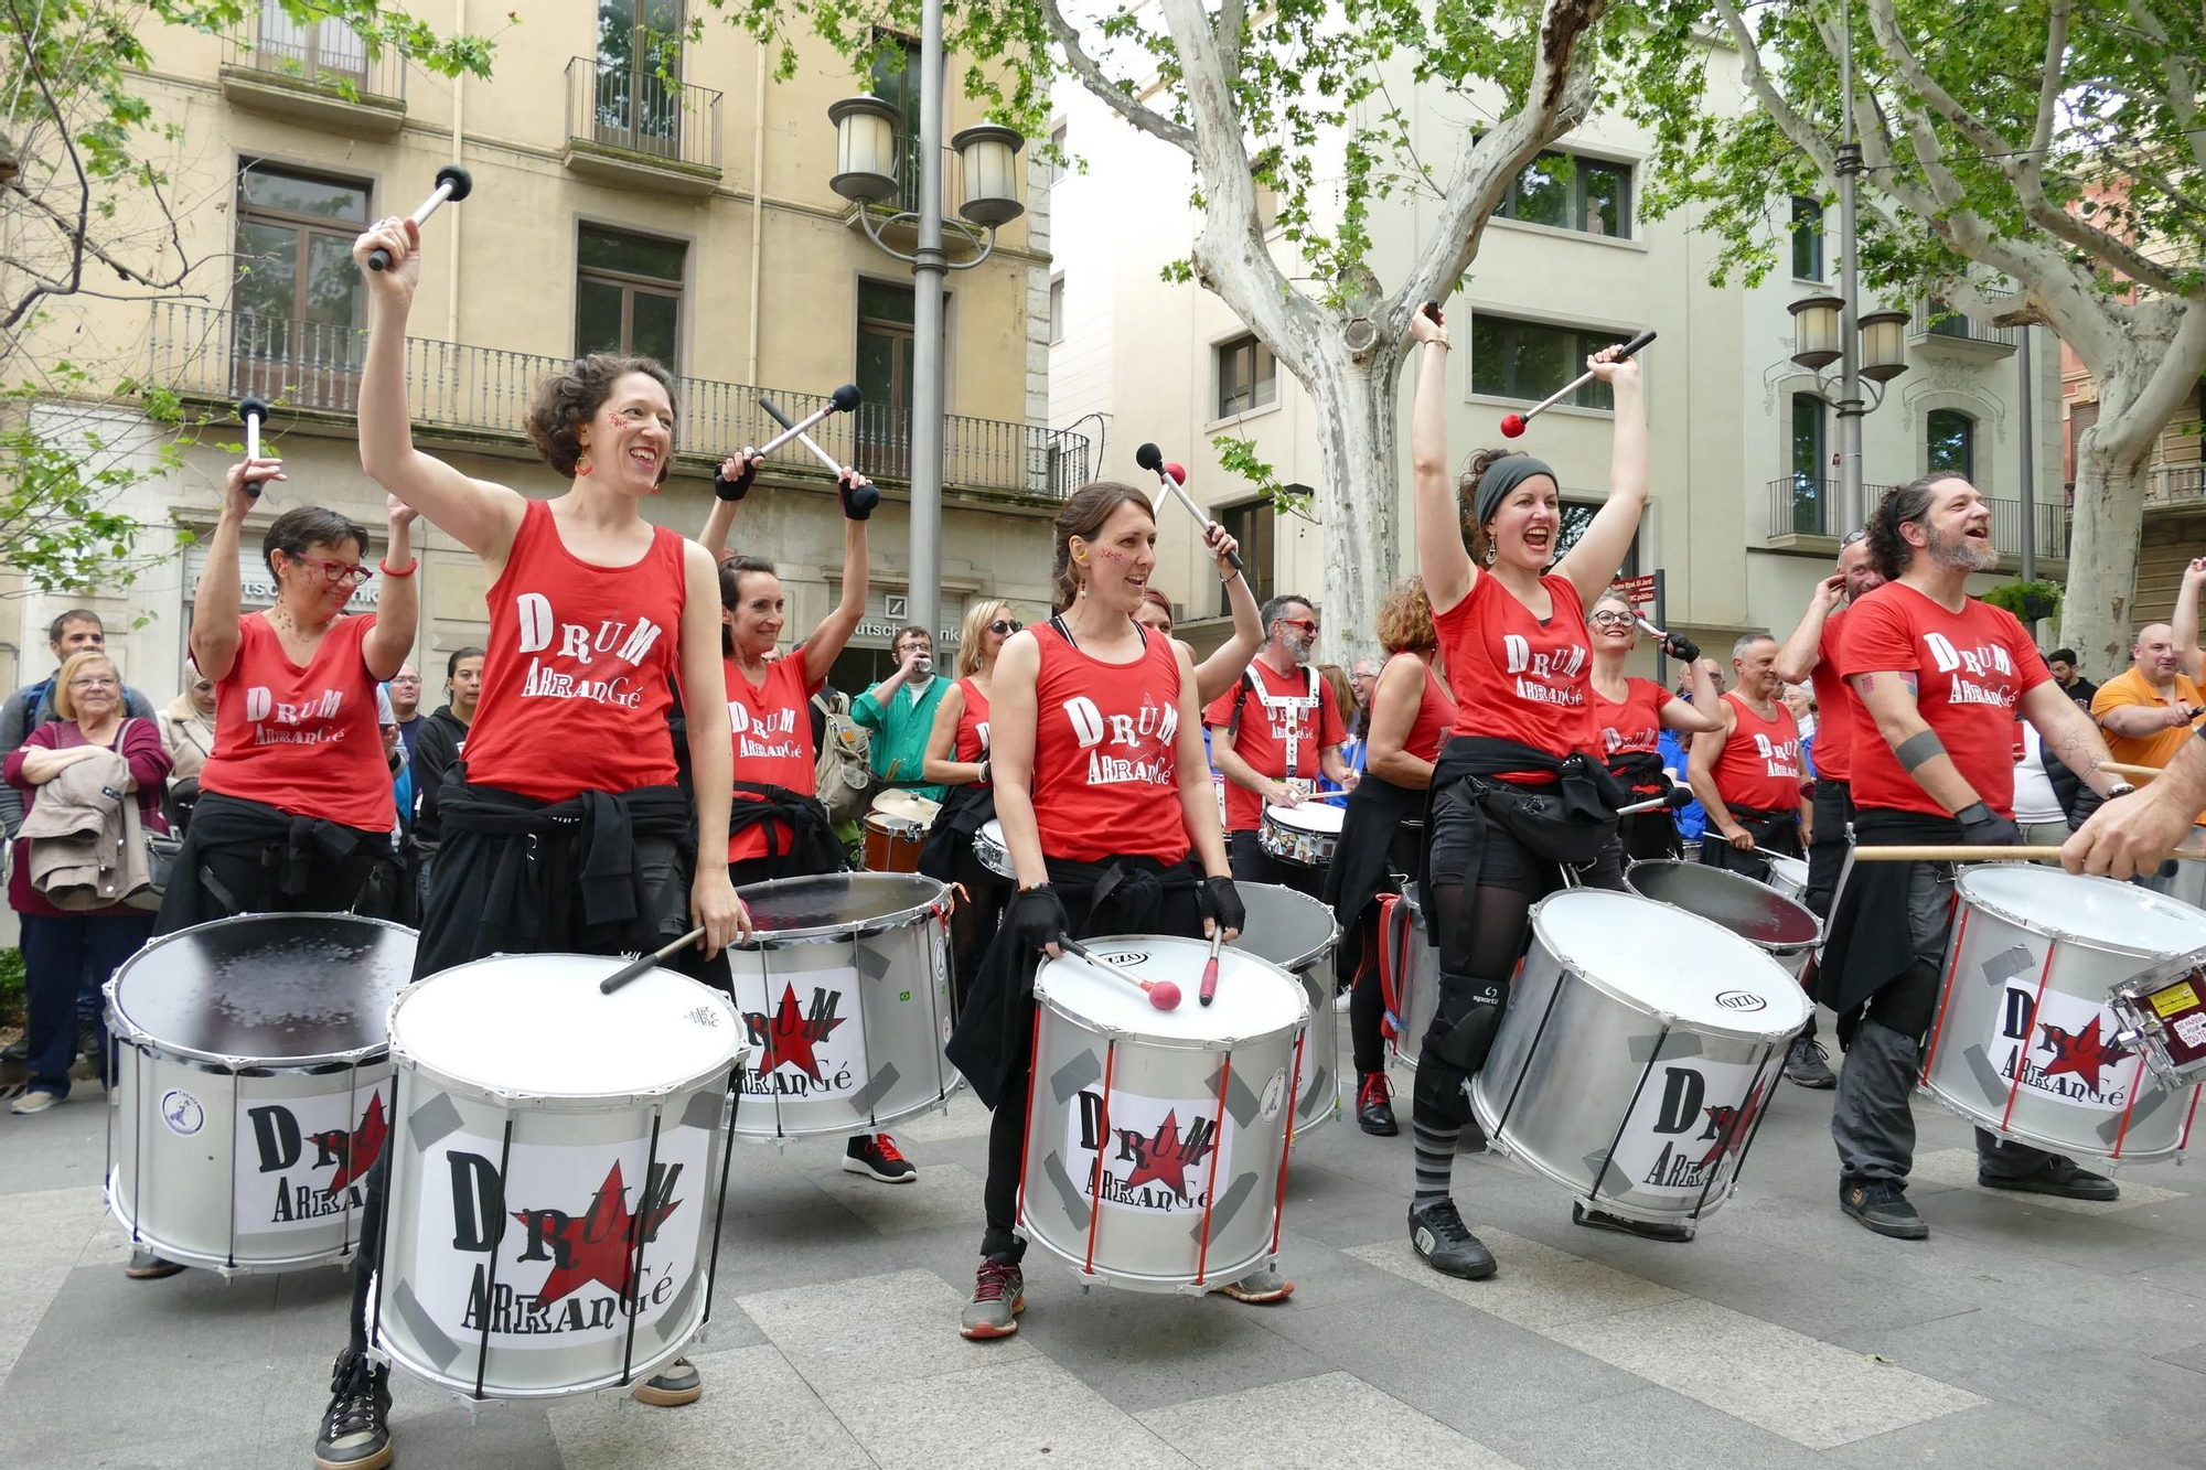
{"type": "Polygon", "coordinates": [[[719,991],[596,954],[501,954],[430,976],[390,1009],[393,1057],[523,1097],[635,1097],[688,1086],[743,1051],[719,991]]]}

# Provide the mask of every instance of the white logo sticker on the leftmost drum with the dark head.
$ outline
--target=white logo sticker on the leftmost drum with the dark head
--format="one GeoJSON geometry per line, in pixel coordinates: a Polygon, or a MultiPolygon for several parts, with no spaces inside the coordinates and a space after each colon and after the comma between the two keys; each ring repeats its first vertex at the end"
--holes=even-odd
{"type": "Polygon", "coordinates": [[[351,1088],[247,1108],[229,1170],[238,1229],[296,1229],[366,1207],[388,1137],[382,1088],[366,1093],[360,1117],[351,1088]]]}

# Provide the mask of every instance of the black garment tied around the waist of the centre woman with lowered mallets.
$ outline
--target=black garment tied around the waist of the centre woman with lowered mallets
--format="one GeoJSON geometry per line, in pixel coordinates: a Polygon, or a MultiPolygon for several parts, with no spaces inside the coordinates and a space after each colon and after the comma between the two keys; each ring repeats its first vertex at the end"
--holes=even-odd
{"type": "MultiPolygon", "coordinates": [[[[1046,861],[1050,892],[1065,905],[1065,931],[1072,938],[1156,934],[1167,898],[1191,892],[1202,878],[1193,859],[1171,865],[1145,856],[1110,863],[1046,861]]],[[[1008,923],[997,929],[944,1046],[951,1066],[966,1075],[973,1095],[988,1108],[995,1108],[1006,1086],[1019,1082],[1010,1073],[1035,1024],[1035,971],[1041,960],[1039,949],[1017,942],[1008,923]]]]}

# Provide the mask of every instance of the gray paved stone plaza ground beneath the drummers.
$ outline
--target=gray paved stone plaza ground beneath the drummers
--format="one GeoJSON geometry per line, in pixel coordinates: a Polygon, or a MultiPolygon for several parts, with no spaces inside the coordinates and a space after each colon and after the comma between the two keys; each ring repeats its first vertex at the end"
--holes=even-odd
{"type": "MultiPolygon", "coordinates": [[[[1081,1293],[1037,1249],[1024,1329],[993,1344],[955,1333],[971,1099],[898,1130],[918,1185],[843,1174],[840,1146],[739,1143],[699,1404],[470,1413],[395,1380],[397,1463],[2206,1466],[2206,1190],[2186,1170],[2124,1170],[2116,1205],[1992,1194],[1968,1130],[1917,1101],[1932,1238],[1884,1240],[1838,1212],[1829,1099],[1782,1088],[1743,1194],[1685,1247],[1577,1229],[1555,1187],[1465,1159],[1489,1282],[1412,1256],[1410,1139],[1341,1121],[1295,1157],[1291,1302],[1081,1293]]],[[[0,1466],[309,1466],[344,1274],[126,1280],[101,1126],[86,1086],[0,1115],[0,1466]]]]}

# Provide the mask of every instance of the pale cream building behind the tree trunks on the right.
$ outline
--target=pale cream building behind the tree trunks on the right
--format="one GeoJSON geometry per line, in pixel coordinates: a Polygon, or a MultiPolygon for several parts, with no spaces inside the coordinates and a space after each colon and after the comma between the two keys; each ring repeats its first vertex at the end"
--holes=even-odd
{"type": "MultiPolygon", "coordinates": [[[[1718,53],[1714,64],[1734,64],[1718,53]]],[[[1489,119],[1407,75],[1390,77],[1410,106],[1418,157],[1441,179],[1474,126],[1489,119]]],[[[1313,404],[1271,351],[1216,296],[1165,285],[1167,260],[1189,252],[1198,221],[1182,207],[1189,163],[1178,150],[1123,124],[1077,86],[1059,93],[1070,155],[1052,199],[1050,424],[1103,441],[1101,475],[1138,479],[1134,448],[1156,441],[1189,466],[1189,488],[1240,536],[1260,596],[1321,596],[1328,488],[1317,466],[1313,404]],[[1127,221],[1141,221],[1129,227],[1127,221]],[[1313,516],[1282,514],[1244,483],[1229,483],[1211,439],[1246,437],[1284,483],[1317,488],[1313,516]]],[[[1831,572],[1838,413],[1816,395],[1816,375],[1791,362],[1789,302],[1838,294],[1835,210],[1831,236],[1798,236],[1769,280],[1710,287],[1718,254],[1692,221],[1648,221],[1639,210],[1648,139],[1621,119],[1595,119],[1564,139],[1571,163],[1533,166],[1487,225],[1469,280],[1449,302],[1452,422],[1458,461],[1500,437],[1504,413],[1544,400],[1582,371],[1584,355],[1657,329],[1648,349],[1654,494],[1628,574],[1661,572],[1666,614],[1718,658],[1745,629],[1787,633],[1816,583],[1831,572]]],[[[1787,230],[1793,201],[1771,201],[1787,230]]],[[[1813,212],[1811,201],[1798,207],[1813,212]]],[[[1372,267],[1401,280],[1436,205],[1399,192],[1370,201],[1372,267]]],[[[1277,236],[1273,236],[1277,241],[1277,236]]],[[[1785,238],[1782,234],[1778,238],[1785,238]]],[[[1288,252],[1284,241],[1275,249],[1288,252]]],[[[1282,254],[1282,260],[1291,260],[1282,254]]],[[[1304,274],[1288,267],[1288,276],[1304,274]]],[[[1864,302],[1864,311],[1877,302],[1864,302]]],[[[2065,510],[2060,472],[2058,342],[2043,329],[1985,329],[1930,302],[1897,302],[1908,371],[1864,419],[1868,497],[1928,468],[1959,468],[1992,499],[2005,569],[2021,550],[2025,475],[2023,364],[2034,417],[2027,430],[2041,576],[2060,578],[2065,510]]],[[[1835,375],[1835,369],[1831,369],[1835,375]]],[[[1412,373],[1401,384],[1396,519],[1401,567],[1414,569],[1407,459],[1412,373]]],[[[1835,393],[1831,395],[1835,397],[1835,393]]],[[[1516,439],[1555,464],[1566,503],[1591,512],[1608,486],[1610,413],[1593,384],[1516,439]]],[[[1449,532],[1443,532],[1449,534],[1449,532]]],[[[1163,589],[1180,603],[1200,645],[1222,638],[1216,576],[1178,521],[1163,530],[1163,589]]],[[[1328,629],[1339,640],[1346,629],[1328,629]]],[[[1370,645],[1370,629],[1350,638],[1370,645]]],[[[1341,649],[1341,642],[1332,642],[1341,649]]],[[[1648,656],[1652,664],[1652,656],[1648,656]]],[[[1652,669],[1648,669],[1652,671],[1652,669]]]]}

